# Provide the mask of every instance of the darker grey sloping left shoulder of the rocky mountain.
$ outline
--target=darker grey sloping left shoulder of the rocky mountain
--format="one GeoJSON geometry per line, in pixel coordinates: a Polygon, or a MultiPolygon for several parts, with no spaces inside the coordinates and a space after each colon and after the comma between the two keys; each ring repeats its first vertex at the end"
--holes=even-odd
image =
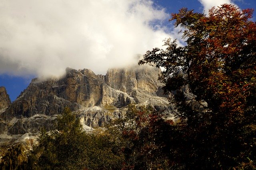
{"type": "Polygon", "coordinates": [[[55,95],[58,91],[62,95],[62,86],[56,88],[55,81],[48,80],[37,83],[33,79],[30,85],[12,103],[12,105],[1,115],[3,119],[12,117],[31,117],[36,114],[55,115],[61,113],[65,107],[77,109],[81,107],[78,103],[72,103],[55,95]]]}

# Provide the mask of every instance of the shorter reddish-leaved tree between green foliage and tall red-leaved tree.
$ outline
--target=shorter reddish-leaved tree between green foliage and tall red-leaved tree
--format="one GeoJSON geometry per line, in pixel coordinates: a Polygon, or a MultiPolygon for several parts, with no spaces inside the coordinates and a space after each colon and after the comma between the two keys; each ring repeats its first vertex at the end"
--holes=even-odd
{"type": "Polygon", "coordinates": [[[122,155],[122,169],[168,169],[172,121],[150,107],[129,105],[126,117],[115,120],[107,132],[122,155]]]}

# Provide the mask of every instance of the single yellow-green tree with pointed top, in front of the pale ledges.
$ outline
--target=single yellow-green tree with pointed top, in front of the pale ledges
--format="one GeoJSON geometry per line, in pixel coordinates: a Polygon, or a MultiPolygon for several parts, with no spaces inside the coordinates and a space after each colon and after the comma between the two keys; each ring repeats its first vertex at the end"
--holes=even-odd
{"type": "Polygon", "coordinates": [[[79,119],[65,108],[57,118],[56,130],[41,131],[38,144],[28,156],[31,169],[80,169],[86,159],[87,136],[82,132],[79,119]]]}

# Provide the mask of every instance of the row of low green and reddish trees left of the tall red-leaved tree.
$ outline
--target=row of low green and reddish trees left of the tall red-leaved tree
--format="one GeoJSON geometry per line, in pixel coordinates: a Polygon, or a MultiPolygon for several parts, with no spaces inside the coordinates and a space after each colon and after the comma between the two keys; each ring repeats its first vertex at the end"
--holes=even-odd
{"type": "Polygon", "coordinates": [[[172,124],[150,108],[130,105],[124,119],[94,134],[84,132],[79,118],[66,108],[56,130],[42,130],[24,162],[18,163],[8,152],[1,166],[3,170],[166,169],[170,167],[172,124]]]}

